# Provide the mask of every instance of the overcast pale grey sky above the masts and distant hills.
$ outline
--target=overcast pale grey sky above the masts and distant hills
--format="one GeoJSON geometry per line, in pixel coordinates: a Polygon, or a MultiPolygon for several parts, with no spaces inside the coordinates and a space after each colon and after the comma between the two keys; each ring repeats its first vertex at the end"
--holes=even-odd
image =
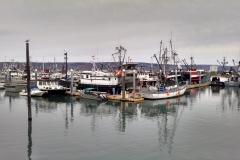
{"type": "Polygon", "coordinates": [[[113,61],[115,47],[134,62],[173,49],[190,63],[232,65],[240,57],[238,0],[1,0],[0,61],[113,61]]]}

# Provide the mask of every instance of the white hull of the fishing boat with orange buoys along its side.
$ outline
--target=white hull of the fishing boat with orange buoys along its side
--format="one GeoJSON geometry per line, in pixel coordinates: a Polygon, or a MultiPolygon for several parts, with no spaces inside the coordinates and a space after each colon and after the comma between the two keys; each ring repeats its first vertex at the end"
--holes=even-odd
{"type": "Polygon", "coordinates": [[[187,83],[185,81],[170,83],[162,83],[159,86],[147,86],[144,90],[140,91],[140,95],[144,99],[166,99],[172,97],[178,97],[184,94],[187,88],[187,83]]]}

